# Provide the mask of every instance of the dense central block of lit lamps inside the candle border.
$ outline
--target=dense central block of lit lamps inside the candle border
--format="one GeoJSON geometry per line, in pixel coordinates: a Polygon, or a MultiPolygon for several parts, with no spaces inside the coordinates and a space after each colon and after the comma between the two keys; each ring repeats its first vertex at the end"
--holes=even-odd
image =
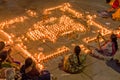
{"type": "MultiPolygon", "coordinates": [[[[44,22],[51,22],[51,20],[54,21],[56,18],[50,18],[49,20],[50,21],[47,20],[44,22]]],[[[30,31],[27,32],[29,38],[32,40],[49,39],[50,41],[55,42],[59,36],[70,34],[75,31],[85,31],[85,26],[74,22],[65,15],[61,16],[59,22],[54,23],[53,25],[44,26],[44,22],[40,21],[37,24],[34,24],[34,30],[30,29],[30,31]]]]}

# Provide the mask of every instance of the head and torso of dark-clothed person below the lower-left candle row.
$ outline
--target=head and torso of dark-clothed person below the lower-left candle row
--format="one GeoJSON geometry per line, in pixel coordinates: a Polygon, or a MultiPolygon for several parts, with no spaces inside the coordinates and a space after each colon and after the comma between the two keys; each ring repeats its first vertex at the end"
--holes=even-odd
{"type": "Polygon", "coordinates": [[[25,64],[21,67],[22,80],[38,80],[40,72],[37,70],[34,61],[31,58],[25,60],[25,64]]]}

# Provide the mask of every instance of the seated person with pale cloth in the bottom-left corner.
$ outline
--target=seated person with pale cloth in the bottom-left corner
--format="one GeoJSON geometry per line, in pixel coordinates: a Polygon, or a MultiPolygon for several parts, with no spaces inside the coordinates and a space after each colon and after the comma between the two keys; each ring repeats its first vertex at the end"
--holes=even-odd
{"type": "Polygon", "coordinates": [[[7,54],[7,51],[0,53],[0,78],[14,80],[18,66],[6,61],[8,58],[7,54]]]}

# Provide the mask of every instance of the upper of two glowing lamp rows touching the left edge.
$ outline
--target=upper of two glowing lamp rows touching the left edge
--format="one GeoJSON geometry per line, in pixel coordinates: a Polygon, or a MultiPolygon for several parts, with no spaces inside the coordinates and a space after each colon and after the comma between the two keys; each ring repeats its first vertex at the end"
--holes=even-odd
{"type": "Polygon", "coordinates": [[[24,20],[28,19],[28,17],[26,16],[20,16],[20,17],[16,17],[14,19],[5,21],[5,22],[1,22],[0,23],[0,29],[3,28],[9,28],[10,25],[14,24],[14,23],[18,23],[18,22],[24,22],[24,20]]]}

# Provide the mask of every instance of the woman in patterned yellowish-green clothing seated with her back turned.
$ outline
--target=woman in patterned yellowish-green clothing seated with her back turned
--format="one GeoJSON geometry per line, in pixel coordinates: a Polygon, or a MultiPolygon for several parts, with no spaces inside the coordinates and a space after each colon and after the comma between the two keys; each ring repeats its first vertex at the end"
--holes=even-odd
{"type": "Polygon", "coordinates": [[[63,70],[68,73],[79,73],[83,69],[83,62],[86,58],[84,54],[81,54],[79,46],[75,46],[74,53],[69,54],[63,59],[63,70]]]}

